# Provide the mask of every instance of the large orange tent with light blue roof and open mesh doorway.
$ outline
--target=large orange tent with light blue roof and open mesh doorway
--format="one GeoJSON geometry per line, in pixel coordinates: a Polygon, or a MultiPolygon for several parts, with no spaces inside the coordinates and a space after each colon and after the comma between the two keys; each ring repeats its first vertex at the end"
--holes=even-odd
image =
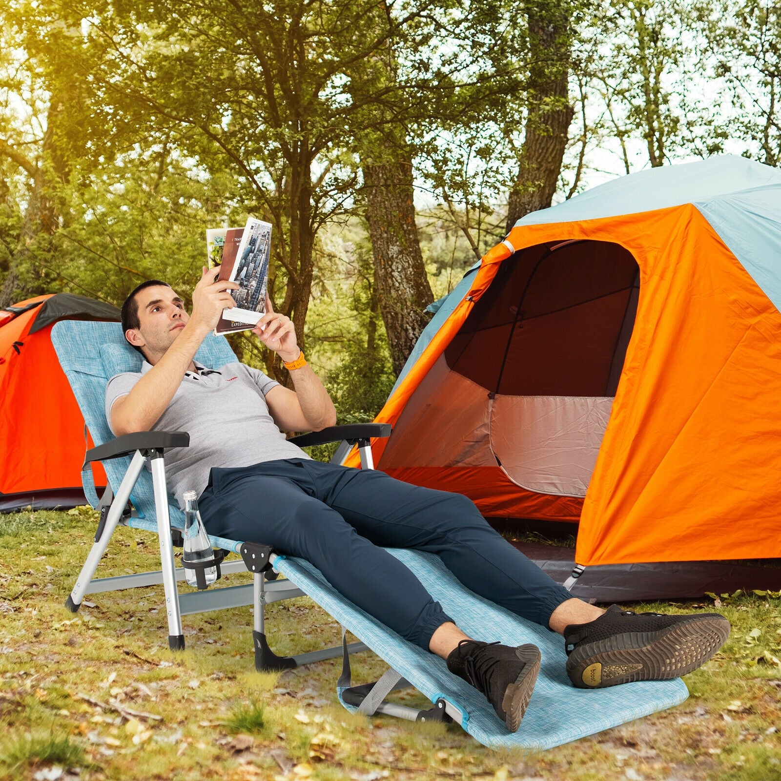
{"type": "Polygon", "coordinates": [[[579,522],[580,565],[781,557],[781,171],[725,155],[594,187],[434,308],[379,469],[579,522]]]}

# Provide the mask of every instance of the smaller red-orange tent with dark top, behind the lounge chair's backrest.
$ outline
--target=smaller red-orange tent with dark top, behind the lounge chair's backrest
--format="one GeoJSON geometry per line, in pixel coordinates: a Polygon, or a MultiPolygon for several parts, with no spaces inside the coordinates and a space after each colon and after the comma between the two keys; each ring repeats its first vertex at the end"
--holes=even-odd
{"type": "MultiPolygon", "coordinates": [[[[52,325],[61,319],[119,320],[119,309],[67,293],[0,309],[2,512],[86,503],[84,418],[51,340],[52,325]]],[[[102,467],[94,469],[95,482],[105,486],[102,467]]]]}

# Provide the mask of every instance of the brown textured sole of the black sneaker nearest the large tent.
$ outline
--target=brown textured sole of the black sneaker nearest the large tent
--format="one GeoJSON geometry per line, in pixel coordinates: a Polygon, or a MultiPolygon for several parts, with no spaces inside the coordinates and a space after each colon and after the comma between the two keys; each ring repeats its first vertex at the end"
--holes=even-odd
{"type": "Polygon", "coordinates": [[[669,680],[707,662],[729,637],[727,619],[691,619],[658,632],[627,632],[572,651],[567,674],[580,689],[669,680]]]}

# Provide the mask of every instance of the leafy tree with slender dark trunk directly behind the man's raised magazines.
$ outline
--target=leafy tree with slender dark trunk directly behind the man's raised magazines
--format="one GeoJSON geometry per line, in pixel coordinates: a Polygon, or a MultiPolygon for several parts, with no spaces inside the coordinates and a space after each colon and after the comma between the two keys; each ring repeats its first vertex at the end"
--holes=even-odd
{"type": "Polygon", "coordinates": [[[269,287],[301,344],[316,235],[348,209],[358,184],[345,141],[355,117],[394,89],[355,102],[349,81],[370,79],[373,55],[425,10],[369,0],[104,0],[77,9],[90,23],[84,64],[95,100],[127,137],[149,141],[165,128],[210,173],[230,171],[244,208],[273,224],[269,287]]]}

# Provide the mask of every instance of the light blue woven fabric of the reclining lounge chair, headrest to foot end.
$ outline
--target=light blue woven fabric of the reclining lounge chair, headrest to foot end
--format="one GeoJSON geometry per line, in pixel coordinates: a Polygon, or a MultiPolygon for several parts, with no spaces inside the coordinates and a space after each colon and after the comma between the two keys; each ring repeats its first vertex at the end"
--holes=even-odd
{"type": "MultiPolygon", "coordinates": [[[[125,342],[119,323],[61,321],[52,329],[52,342],[84,413],[93,441],[98,445],[112,440],[112,433],[105,421],[106,383],[117,373],[140,370],[141,356],[125,342]]],[[[206,338],[196,359],[210,369],[219,369],[236,360],[224,337],[213,336],[206,338]]],[[[106,474],[115,490],[122,483],[130,462],[130,457],[104,462],[106,474]]],[[[85,474],[84,480],[85,490],[90,490],[91,476],[85,474]]],[[[91,504],[97,506],[94,487],[91,488],[91,494],[87,495],[91,504]]],[[[138,514],[143,517],[127,519],[127,525],[158,532],[152,476],[145,470],[141,471],[132,488],[131,499],[138,514]]],[[[184,515],[170,495],[168,505],[171,526],[183,526],[184,515]]],[[[212,537],[211,540],[212,545],[227,551],[238,552],[242,544],[241,540],[220,537],[212,537]]],[[[99,553],[95,566],[100,558],[99,553]]],[[[432,703],[443,703],[456,722],[487,746],[550,748],[672,707],[688,696],[686,685],[680,679],[660,683],[629,683],[594,691],[576,689],[569,683],[565,673],[565,652],[561,637],[473,594],[458,582],[436,556],[408,550],[391,550],[391,553],[415,572],[433,598],[440,601],[444,610],[466,633],[483,640],[501,640],[511,645],[532,642],[540,647],[543,654],[540,678],[519,732],[508,734],[483,695],[462,679],[451,675],[440,658],[408,643],[371,615],[356,608],[338,594],[311,564],[284,556],[276,556],[273,563],[277,571],[301,590],[296,590],[292,595],[303,592],[312,597],[342,626],[390,664],[398,676],[412,683],[432,703]]],[[[263,576],[255,574],[255,588],[262,587],[263,576]]],[[[173,588],[173,594],[176,594],[175,583],[173,588]]],[[[166,601],[169,599],[167,589],[166,586],[166,601]]],[[[178,599],[176,596],[173,598],[178,599]]],[[[263,600],[259,599],[257,590],[254,602],[262,608],[263,600]]],[[[256,610],[256,629],[258,614],[256,610]]],[[[260,627],[262,630],[262,620],[260,627]]],[[[320,655],[319,658],[328,657],[320,655]]],[[[346,669],[349,669],[346,654],[345,662],[346,669]]],[[[343,676],[338,689],[340,700],[345,707],[355,709],[345,700],[347,686],[349,684],[345,683],[343,676]]],[[[396,710],[405,709],[396,706],[396,710]]],[[[405,718],[414,719],[414,713],[405,718]]]]}

